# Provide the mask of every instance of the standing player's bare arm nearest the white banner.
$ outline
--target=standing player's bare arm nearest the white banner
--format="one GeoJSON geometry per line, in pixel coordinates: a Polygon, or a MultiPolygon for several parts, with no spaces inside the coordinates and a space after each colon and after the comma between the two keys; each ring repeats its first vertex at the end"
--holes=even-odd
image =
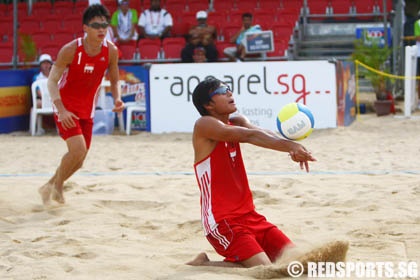
{"type": "Polygon", "coordinates": [[[121,100],[121,88],[118,84],[118,50],[113,43],[109,43],[109,80],[111,82],[111,93],[114,98],[113,112],[122,112],[124,110],[124,103],[121,100]]]}

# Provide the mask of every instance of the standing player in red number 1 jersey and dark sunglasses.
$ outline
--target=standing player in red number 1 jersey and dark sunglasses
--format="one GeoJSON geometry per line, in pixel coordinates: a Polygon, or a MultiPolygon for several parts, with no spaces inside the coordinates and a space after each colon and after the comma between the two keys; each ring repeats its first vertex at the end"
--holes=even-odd
{"type": "Polygon", "coordinates": [[[51,198],[64,203],[64,181],[83,164],[92,138],[93,114],[98,89],[108,71],[114,112],[124,103],[118,86],[118,50],[105,39],[109,11],[102,5],[89,6],[83,13],[85,36],[64,45],[48,77],[48,90],[54,104],[54,118],[67,153],[54,176],[39,189],[44,204],[51,198]]]}

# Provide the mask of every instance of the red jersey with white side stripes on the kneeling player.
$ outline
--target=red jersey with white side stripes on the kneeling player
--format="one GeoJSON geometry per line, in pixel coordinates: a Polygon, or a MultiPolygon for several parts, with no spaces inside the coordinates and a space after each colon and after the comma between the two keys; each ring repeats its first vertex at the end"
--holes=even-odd
{"type": "Polygon", "coordinates": [[[239,143],[219,142],[208,157],[194,164],[194,170],[206,235],[221,220],[254,210],[239,143]]]}

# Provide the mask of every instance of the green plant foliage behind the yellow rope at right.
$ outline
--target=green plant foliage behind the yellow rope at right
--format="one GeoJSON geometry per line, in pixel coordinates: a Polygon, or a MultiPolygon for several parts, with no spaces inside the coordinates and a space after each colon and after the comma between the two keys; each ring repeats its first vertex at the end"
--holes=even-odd
{"type": "MultiPolygon", "coordinates": [[[[355,41],[351,58],[353,61],[358,60],[375,70],[389,73],[390,69],[387,61],[391,54],[392,49],[387,45],[382,47],[378,41],[359,39],[355,41]]],[[[364,69],[362,73],[371,81],[376,98],[383,99],[384,87],[389,78],[367,69],[364,69]]]]}

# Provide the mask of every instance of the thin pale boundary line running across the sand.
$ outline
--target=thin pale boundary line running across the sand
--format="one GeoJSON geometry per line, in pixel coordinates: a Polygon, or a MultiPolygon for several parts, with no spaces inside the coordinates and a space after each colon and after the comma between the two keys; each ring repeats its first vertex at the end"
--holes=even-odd
{"type": "MultiPolygon", "coordinates": [[[[303,171],[296,172],[279,172],[279,171],[251,171],[248,175],[397,175],[397,174],[415,174],[419,175],[420,170],[367,170],[367,171],[303,171]]],[[[52,173],[0,173],[0,178],[5,177],[51,177],[52,173]]],[[[168,176],[168,175],[195,175],[194,172],[188,171],[129,171],[129,172],[80,172],[75,176],[168,176]]]]}

